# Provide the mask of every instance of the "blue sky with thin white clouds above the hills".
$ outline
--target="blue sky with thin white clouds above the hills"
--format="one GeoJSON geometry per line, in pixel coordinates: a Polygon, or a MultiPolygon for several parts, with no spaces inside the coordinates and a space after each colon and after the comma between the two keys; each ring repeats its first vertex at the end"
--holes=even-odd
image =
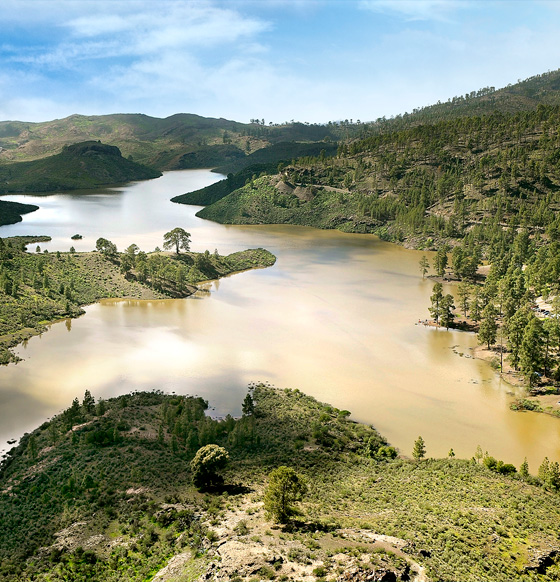
{"type": "Polygon", "coordinates": [[[2,0],[0,120],[371,121],[560,68],[560,0],[2,0]]]}

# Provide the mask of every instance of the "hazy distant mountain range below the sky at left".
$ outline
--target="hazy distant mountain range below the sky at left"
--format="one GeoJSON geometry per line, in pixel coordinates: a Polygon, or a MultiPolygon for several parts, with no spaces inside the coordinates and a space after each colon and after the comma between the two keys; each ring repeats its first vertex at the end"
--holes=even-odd
{"type": "Polygon", "coordinates": [[[43,123],[0,122],[0,162],[36,160],[58,154],[69,144],[100,140],[158,170],[208,168],[279,142],[334,140],[339,134],[333,124],[238,123],[186,113],[165,119],[141,114],[71,115],[43,123]]]}

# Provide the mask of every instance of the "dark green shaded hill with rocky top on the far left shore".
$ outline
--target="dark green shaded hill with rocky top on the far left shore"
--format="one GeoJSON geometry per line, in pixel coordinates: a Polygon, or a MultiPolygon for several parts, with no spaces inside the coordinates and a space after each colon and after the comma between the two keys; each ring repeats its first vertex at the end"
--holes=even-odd
{"type": "Polygon", "coordinates": [[[0,165],[0,193],[98,188],[159,176],[160,172],[123,158],[115,146],[87,141],[40,160],[0,165]]]}

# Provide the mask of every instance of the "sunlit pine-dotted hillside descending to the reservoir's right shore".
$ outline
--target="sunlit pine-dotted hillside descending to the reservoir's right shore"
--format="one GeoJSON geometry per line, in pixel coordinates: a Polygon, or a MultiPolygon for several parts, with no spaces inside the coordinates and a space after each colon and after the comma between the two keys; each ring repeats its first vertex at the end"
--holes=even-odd
{"type": "Polygon", "coordinates": [[[419,125],[344,142],[200,211],[218,222],[373,232],[422,248],[523,225],[560,227],[560,106],[419,125]],[[297,190],[299,188],[299,190],[297,190]]]}

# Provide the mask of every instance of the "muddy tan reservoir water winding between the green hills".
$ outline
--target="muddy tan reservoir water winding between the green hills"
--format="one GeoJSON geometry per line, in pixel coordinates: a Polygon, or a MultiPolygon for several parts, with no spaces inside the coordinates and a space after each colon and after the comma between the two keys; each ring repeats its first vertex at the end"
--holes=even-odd
{"type": "Polygon", "coordinates": [[[427,456],[453,448],[470,458],[480,444],[516,466],[527,457],[532,473],[545,456],[560,460],[560,419],[510,411],[515,389],[470,357],[473,334],[418,324],[433,287],[418,267],[424,253],[371,235],[219,225],[169,201],[220,178],[186,170],[108,190],[2,197],[40,209],[0,236],[49,235],[40,243],[49,251],[92,250],[99,237],[152,251],[180,226],[192,250],[264,247],[277,262],[188,299],[105,300],[19,346],[24,361],[0,367],[0,449],[86,389],[96,399],[197,394],[220,416],[240,414],[247,385],[263,381],[350,410],[407,455],[421,435],[427,456]]]}

